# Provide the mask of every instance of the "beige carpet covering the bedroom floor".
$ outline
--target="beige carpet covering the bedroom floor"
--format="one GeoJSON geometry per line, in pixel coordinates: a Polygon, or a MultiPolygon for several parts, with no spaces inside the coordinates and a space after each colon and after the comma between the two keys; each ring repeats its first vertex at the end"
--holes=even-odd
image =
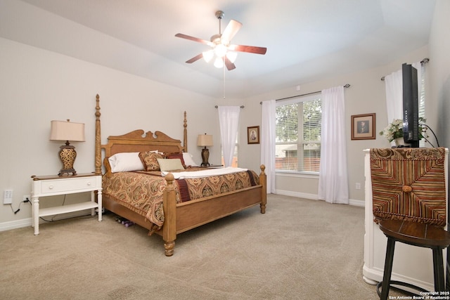
{"type": "Polygon", "coordinates": [[[178,235],[172,257],[113,214],[39,231],[0,233],[1,299],[378,299],[362,278],[361,207],[269,195],[266,214],[178,235]]]}

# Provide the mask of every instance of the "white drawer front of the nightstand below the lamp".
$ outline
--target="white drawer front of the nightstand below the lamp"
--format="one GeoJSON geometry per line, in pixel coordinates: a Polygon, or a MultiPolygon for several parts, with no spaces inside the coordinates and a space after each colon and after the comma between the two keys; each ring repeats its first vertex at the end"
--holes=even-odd
{"type": "MultiPolygon", "coordinates": [[[[81,178],[70,178],[66,180],[47,180],[40,181],[40,194],[53,194],[60,192],[75,193],[79,190],[92,190],[97,186],[96,177],[81,177],[81,178]]],[[[38,185],[39,185],[38,183],[38,185]]],[[[39,190],[39,188],[37,188],[39,190]]],[[[39,193],[38,192],[38,193],[39,193]]]]}

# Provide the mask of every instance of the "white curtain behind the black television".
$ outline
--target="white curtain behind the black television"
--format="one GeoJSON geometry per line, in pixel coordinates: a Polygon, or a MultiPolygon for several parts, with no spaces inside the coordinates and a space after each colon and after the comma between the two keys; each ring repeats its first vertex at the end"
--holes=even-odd
{"type": "MultiPolygon", "coordinates": [[[[420,97],[420,93],[422,93],[422,64],[417,62],[412,65],[417,70],[418,95],[420,97]]],[[[403,77],[401,69],[385,76],[385,85],[387,123],[389,124],[394,119],[403,119],[403,77]]]]}

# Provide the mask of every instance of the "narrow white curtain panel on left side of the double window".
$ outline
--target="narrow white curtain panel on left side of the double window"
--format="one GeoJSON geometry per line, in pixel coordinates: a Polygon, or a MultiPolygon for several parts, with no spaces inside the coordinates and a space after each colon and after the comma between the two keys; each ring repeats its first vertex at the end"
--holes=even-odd
{"type": "Polygon", "coordinates": [[[261,164],[266,166],[267,193],[275,193],[275,100],[263,101],[261,164]]]}

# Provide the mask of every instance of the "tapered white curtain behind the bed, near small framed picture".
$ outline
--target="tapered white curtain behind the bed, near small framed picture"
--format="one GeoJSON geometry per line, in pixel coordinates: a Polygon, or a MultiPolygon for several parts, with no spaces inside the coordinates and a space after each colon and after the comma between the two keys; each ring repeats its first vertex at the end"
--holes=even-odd
{"type": "Polygon", "coordinates": [[[222,153],[225,167],[231,167],[233,163],[234,147],[239,125],[239,106],[219,106],[219,124],[222,153]]]}

